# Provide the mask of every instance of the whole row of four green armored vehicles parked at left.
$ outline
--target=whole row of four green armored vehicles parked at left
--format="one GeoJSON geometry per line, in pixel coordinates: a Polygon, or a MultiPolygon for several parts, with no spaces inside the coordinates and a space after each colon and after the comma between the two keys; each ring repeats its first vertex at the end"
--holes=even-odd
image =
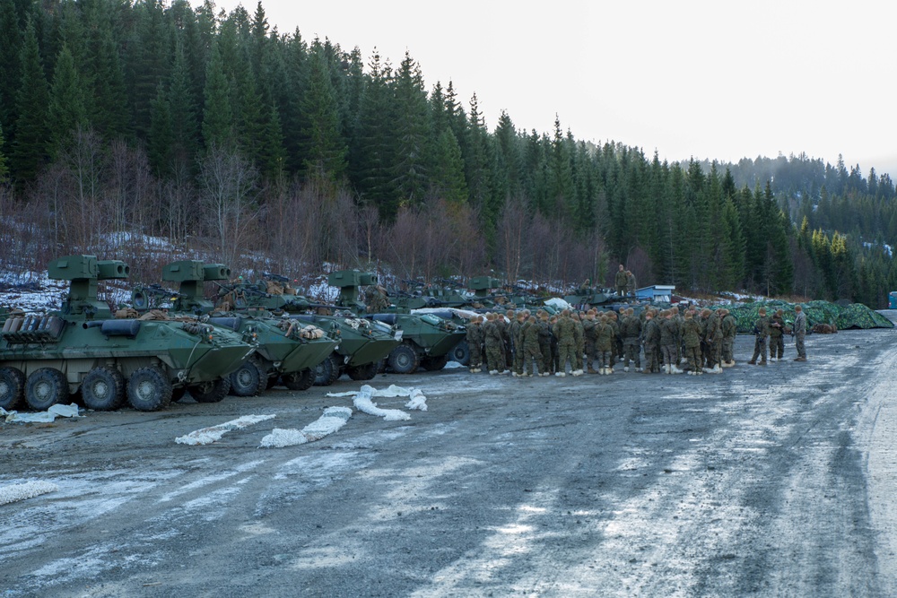
{"type": "Polygon", "coordinates": [[[222,284],[230,280],[226,266],[183,260],[163,268],[163,281],[179,283],[178,290],[135,288],[131,306],[113,312],[98,299],[98,282],[128,273],[115,260],[59,258],[48,275],[71,283],[62,308],[0,312],[0,407],[45,410],[80,395],[90,409],[127,402],[156,411],[187,394],[214,402],[275,384],[304,390],[343,373],[366,380],[385,367],[442,368],[465,335],[438,316],[367,313],[358,288],[376,283],[369,273],[332,273],[340,300],[320,306],[258,284],[222,284]],[[217,282],[226,291],[220,299],[231,301],[206,299],[205,282],[217,282]],[[320,308],[329,314],[309,313],[320,308]]]}

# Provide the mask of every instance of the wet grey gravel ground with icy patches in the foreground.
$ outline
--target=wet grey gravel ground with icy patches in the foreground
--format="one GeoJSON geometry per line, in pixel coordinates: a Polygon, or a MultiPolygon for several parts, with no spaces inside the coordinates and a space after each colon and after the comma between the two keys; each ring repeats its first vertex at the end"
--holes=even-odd
{"type": "Polygon", "coordinates": [[[328,392],[0,423],[0,597],[894,596],[897,331],[808,337],[722,375],[379,376],[328,392]],[[213,444],[175,438],[271,415],[213,444]]]}

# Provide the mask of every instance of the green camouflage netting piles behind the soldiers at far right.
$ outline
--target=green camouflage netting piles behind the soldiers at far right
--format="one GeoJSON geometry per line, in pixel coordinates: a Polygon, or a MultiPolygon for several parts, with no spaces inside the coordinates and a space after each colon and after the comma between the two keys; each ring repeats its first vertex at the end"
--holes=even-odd
{"type": "MultiPolygon", "coordinates": [[[[861,303],[851,303],[847,307],[840,307],[837,303],[828,301],[808,301],[802,303],[806,314],[807,330],[817,324],[835,325],[838,330],[849,328],[893,328],[893,322],[876,311],[867,308],[861,303]]],[[[741,334],[753,333],[753,323],[757,321],[757,312],[760,308],[766,308],[767,316],[771,316],[778,309],[782,310],[785,321],[794,322],[794,303],[778,299],[770,301],[754,301],[753,303],[733,304],[718,306],[727,308],[738,322],[738,332],[741,334]]]]}

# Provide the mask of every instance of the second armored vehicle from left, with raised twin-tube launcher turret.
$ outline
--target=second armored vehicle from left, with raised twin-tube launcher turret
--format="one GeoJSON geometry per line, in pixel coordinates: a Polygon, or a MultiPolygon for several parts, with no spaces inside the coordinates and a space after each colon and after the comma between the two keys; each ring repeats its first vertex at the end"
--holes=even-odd
{"type": "Polygon", "coordinates": [[[176,313],[209,316],[209,324],[251,335],[257,342],[256,353],[231,373],[231,394],[252,396],[270,386],[278,377],[291,390],[306,390],[314,382],[314,370],[326,360],[338,344],[317,326],[303,326],[274,317],[262,308],[239,312],[217,311],[213,302],[205,299],[205,282],[227,281],[231,269],[223,264],[203,264],[199,260],[181,260],[162,268],[162,280],[178,282],[176,293],[161,287],[138,288],[132,292],[132,302],[144,305],[144,295],[165,294],[174,300],[176,313]]]}

